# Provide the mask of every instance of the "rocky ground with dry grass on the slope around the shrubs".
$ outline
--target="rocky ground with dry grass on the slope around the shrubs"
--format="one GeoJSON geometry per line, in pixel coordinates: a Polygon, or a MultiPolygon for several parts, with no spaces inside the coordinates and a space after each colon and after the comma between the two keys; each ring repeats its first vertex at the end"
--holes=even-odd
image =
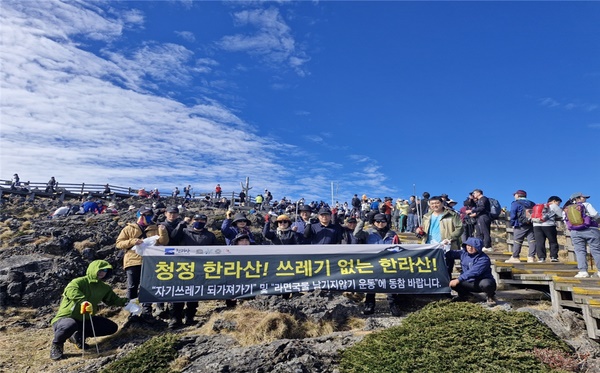
{"type": "MultiPolygon", "coordinates": [[[[120,211],[129,205],[140,206],[136,199],[118,202],[120,211]]],[[[113,337],[99,339],[101,354],[66,347],[66,360],[48,358],[52,336],[49,321],[58,306],[64,286],[84,274],[87,264],[104,259],[116,268],[110,283],[124,293],[125,276],[115,250],[121,228],[134,220],[134,212],[118,215],[71,216],[48,219],[57,201],[36,200],[25,203],[15,198],[0,206],[0,371],[98,371],[107,363],[135,350],[150,337],[167,332],[166,323],[121,330],[113,337]]],[[[194,206],[188,213],[200,211],[194,206]]],[[[202,210],[209,226],[218,233],[225,211],[202,210]]],[[[262,218],[254,216],[260,240],[262,218]]],[[[581,317],[569,311],[553,313],[544,295],[536,291],[500,291],[499,309],[517,308],[533,313],[569,343],[581,356],[588,357],[585,369],[600,371],[600,347],[587,338],[581,317]],[[521,308],[525,306],[525,308],[521,308]]],[[[436,301],[435,297],[407,299],[403,312],[409,314],[436,301]]],[[[483,303],[483,302],[482,302],[483,303]]],[[[483,306],[483,305],[482,305],[483,306]]],[[[356,294],[315,292],[298,294],[289,300],[259,297],[244,301],[235,312],[291,315],[295,320],[331,325],[318,336],[276,339],[258,344],[244,343],[234,331],[247,322],[230,315],[222,302],[202,302],[199,324],[181,328],[178,349],[179,368],[184,372],[337,372],[338,352],[373,331],[397,325],[403,317],[393,317],[385,298],[378,298],[376,313],[363,316],[356,294]],[[233,320],[233,321],[232,321],[233,320]]],[[[125,311],[104,309],[104,314],[123,323],[125,311]]]]}

